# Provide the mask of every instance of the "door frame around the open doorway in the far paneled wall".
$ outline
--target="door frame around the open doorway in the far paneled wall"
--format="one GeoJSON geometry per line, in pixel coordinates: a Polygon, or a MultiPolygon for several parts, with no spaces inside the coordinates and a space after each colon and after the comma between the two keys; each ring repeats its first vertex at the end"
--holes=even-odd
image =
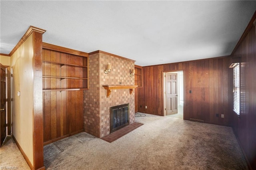
{"type": "MultiPolygon", "coordinates": [[[[166,73],[172,73],[172,72],[179,72],[179,71],[182,71],[183,72],[183,120],[185,120],[185,116],[184,116],[184,113],[185,113],[185,71],[184,70],[170,70],[170,71],[163,71],[162,73],[162,76],[163,76],[163,103],[164,103],[164,116],[166,116],[166,94],[165,94],[165,83],[166,83],[166,73]]],[[[179,81],[179,79],[178,79],[179,81]]],[[[179,87],[180,88],[180,87],[179,87]]]]}

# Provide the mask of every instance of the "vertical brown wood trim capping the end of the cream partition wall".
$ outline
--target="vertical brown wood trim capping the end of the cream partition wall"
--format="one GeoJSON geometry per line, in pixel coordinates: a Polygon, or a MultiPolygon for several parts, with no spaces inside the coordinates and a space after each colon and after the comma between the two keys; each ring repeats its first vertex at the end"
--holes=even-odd
{"type": "Polygon", "coordinates": [[[42,108],[42,33],[33,32],[34,45],[34,111],[33,152],[34,169],[44,168],[43,108],[42,108]]]}

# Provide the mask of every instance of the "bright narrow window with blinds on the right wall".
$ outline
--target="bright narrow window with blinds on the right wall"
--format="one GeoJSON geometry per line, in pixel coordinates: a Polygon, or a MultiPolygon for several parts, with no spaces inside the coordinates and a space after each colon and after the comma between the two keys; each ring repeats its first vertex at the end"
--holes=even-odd
{"type": "Polygon", "coordinates": [[[240,81],[239,63],[233,65],[233,110],[237,115],[240,114],[240,81]]]}

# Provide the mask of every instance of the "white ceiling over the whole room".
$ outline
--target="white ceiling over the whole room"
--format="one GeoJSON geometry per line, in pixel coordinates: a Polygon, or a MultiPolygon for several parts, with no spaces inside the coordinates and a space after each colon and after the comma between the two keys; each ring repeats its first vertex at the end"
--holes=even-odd
{"type": "Polygon", "coordinates": [[[43,42],[106,51],[156,65],[230,55],[256,1],[4,1],[0,53],[9,54],[29,26],[43,42]]]}

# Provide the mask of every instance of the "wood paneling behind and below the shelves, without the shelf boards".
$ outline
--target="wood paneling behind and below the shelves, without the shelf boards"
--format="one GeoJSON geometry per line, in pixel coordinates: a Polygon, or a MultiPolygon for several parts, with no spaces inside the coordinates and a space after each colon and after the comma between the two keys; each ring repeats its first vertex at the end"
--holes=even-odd
{"type": "MultiPolygon", "coordinates": [[[[79,64],[79,57],[54,50],[43,49],[42,59],[47,61],[79,64]]],[[[59,64],[42,64],[43,75],[82,77],[83,69],[61,67],[59,64]]],[[[83,91],[66,91],[68,88],[82,87],[76,79],[44,78],[43,79],[43,124],[44,144],[84,131],[83,125],[83,91]],[[64,91],[56,91],[60,89],[64,91]],[[66,89],[65,89],[66,88],[66,89]]]]}

